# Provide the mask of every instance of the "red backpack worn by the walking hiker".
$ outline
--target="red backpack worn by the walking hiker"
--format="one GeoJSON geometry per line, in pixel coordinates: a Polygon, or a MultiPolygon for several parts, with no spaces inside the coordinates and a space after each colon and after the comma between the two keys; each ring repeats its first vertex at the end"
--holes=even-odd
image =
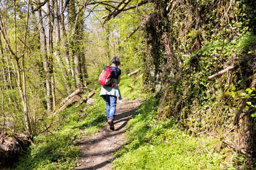
{"type": "Polygon", "coordinates": [[[107,66],[105,70],[100,74],[99,82],[102,86],[114,86],[114,79],[112,79],[111,74],[113,70],[110,66],[107,66]]]}

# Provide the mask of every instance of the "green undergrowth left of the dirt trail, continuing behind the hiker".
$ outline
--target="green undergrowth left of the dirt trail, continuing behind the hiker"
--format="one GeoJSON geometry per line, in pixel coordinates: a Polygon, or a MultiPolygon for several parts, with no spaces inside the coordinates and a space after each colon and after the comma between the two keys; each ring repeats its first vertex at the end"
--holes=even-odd
{"type": "MultiPolygon", "coordinates": [[[[141,78],[122,77],[120,91],[125,99],[144,98],[140,93],[141,78]]],[[[84,94],[86,95],[86,94],[84,94]]],[[[106,125],[105,101],[100,98],[100,86],[93,98],[97,101],[88,106],[70,106],[56,115],[53,125],[46,132],[33,138],[33,145],[18,157],[11,169],[72,169],[78,163],[78,145],[82,135],[91,135],[106,125]],[[87,109],[85,109],[87,107],[87,109]]],[[[49,120],[46,120],[50,123],[49,120]]],[[[46,123],[46,125],[48,125],[46,123]]]]}

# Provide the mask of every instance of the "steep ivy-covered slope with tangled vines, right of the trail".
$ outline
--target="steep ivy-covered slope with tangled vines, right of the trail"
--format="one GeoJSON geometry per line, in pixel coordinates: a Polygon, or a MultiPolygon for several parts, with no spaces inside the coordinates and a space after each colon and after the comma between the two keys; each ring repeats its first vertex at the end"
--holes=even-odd
{"type": "Polygon", "coordinates": [[[255,3],[166,0],[154,9],[144,21],[144,79],[158,93],[157,114],[242,154],[238,167],[254,167],[255,3]]]}

